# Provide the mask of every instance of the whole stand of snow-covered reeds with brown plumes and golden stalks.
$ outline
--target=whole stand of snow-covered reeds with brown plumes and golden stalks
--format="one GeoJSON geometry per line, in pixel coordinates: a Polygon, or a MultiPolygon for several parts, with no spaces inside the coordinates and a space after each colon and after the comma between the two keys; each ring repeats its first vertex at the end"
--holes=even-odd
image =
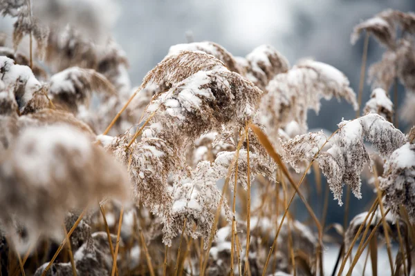
{"type": "Polygon", "coordinates": [[[15,18],[0,36],[0,275],[323,275],[330,242],[333,275],[369,253],[376,274],[382,247],[394,275],[415,275],[415,127],[398,128],[415,125],[415,14],[353,30],[353,43],[365,34],[358,92],[329,64],[291,66],[269,45],[234,57],[210,41],[166,49],[131,88],[111,1],[32,5],[0,0],[15,18]],[[385,53],[362,103],[369,36],[385,53]],[[356,117],[309,131],[307,110],[332,98],[356,117]],[[327,226],[325,181],[346,212],[344,190],[373,204],[327,226]]]}

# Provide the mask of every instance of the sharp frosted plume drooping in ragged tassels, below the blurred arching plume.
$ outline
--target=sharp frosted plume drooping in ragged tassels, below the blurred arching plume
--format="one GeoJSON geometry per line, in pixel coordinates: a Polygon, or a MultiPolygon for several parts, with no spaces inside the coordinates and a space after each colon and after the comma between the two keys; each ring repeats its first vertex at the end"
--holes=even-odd
{"type": "Polygon", "coordinates": [[[327,177],[334,198],[342,205],[343,183],[361,198],[360,172],[371,164],[363,140],[372,143],[380,157],[386,159],[396,148],[405,143],[405,135],[380,115],[369,113],[353,121],[342,121],[339,131],[331,139],[331,148],[317,157],[323,174],[327,177]]]}

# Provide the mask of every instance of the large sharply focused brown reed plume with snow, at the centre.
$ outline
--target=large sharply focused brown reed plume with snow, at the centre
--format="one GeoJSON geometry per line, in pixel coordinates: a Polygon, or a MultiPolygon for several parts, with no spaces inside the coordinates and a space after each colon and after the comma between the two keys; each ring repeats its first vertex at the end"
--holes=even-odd
{"type": "Polygon", "coordinates": [[[131,141],[127,132],[105,147],[129,164],[136,198],[163,217],[166,233],[174,221],[173,195],[167,187],[167,177],[181,175],[186,170],[186,148],[203,133],[220,131],[230,122],[245,126],[261,90],[227,70],[218,59],[201,52],[180,52],[166,57],[147,74],[142,87],[157,81],[178,82],[151,101],[147,115],[152,113],[153,117],[141,141],[134,141],[126,150],[125,145],[131,141]],[[173,63],[181,66],[165,68],[173,63]],[[166,70],[160,71],[162,68],[166,70]],[[190,77],[178,81],[186,75],[190,77]]]}

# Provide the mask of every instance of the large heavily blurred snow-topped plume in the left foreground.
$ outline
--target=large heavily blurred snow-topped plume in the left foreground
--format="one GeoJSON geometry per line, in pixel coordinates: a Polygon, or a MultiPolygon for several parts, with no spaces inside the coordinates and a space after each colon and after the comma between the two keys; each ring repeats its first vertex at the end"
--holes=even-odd
{"type": "Polygon", "coordinates": [[[1,220],[19,221],[33,244],[38,233],[62,234],[59,221],[68,210],[104,197],[125,198],[127,184],[122,166],[78,130],[28,128],[0,163],[1,220]]]}

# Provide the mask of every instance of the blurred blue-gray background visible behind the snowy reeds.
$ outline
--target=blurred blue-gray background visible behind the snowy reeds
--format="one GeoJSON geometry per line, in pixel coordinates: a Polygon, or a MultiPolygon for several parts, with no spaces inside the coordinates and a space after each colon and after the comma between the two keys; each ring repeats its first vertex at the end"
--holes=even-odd
{"type": "MultiPolygon", "coordinates": [[[[291,64],[303,57],[313,57],[342,70],[355,91],[363,39],[354,46],[350,44],[353,26],[385,8],[405,12],[415,8],[412,0],[122,0],[119,3],[121,15],[114,34],[131,62],[129,72],[133,85],[140,84],[145,73],[165,57],[169,46],[185,43],[186,33],[192,33],[194,41],[214,41],[237,56],[245,56],[252,48],[269,43],[291,64]]],[[[368,63],[380,59],[382,50],[371,39],[368,63]]],[[[364,103],[369,93],[366,85],[364,103]]],[[[402,100],[400,93],[400,103],[402,100]]],[[[309,112],[308,126],[335,130],[342,117],[355,117],[347,103],[323,101],[318,116],[309,112]]],[[[313,175],[308,178],[312,181],[313,175]]],[[[326,185],[324,177],[323,181],[326,185]]],[[[360,213],[373,199],[373,191],[367,184],[362,187],[362,196],[360,200],[351,196],[349,218],[360,213]]],[[[312,195],[311,201],[317,210],[322,206],[319,202],[322,197],[317,199],[312,195]]],[[[331,195],[329,201],[327,220],[342,223],[344,206],[338,206],[331,195]]],[[[306,216],[300,202],[295,209],[297,216],[306,216]]]]}

